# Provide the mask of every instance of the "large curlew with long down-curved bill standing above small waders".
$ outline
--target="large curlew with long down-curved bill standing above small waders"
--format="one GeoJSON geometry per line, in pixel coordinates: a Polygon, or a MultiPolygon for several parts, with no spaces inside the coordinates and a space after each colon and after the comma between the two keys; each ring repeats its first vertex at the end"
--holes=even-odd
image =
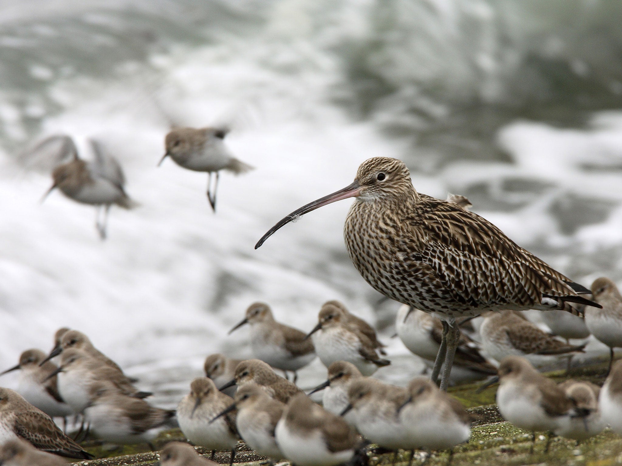
{"type": "Polygon", "coordinates": [[[436,380],[444,363],[443,389],[459,341],[456,318],[502,309],[566,309],[569,302],[600,307],[579,296],[587,288],[516,245],[483,217],[455,202],[417,193],[408,168],[395,158],[366,160],[351,185],[292,212],[255,248],[301,215],[351,197],[356,200],[344,237],[363,278],[384,296],[446,322],[445,345],[432,370],[436,380]]]}

